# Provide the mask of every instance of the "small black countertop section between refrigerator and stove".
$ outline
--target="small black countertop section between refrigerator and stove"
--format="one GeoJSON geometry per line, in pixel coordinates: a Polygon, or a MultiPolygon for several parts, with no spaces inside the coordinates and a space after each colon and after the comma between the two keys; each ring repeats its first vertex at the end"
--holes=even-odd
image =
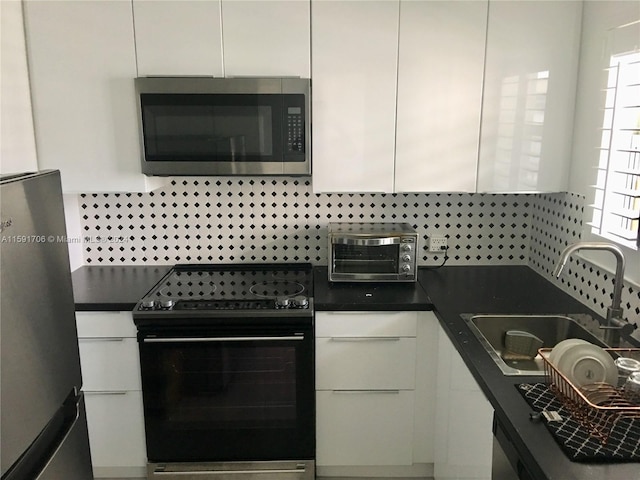
{"type": "Polygon", "coordinates": [[[76,311],[133,310],[170,266],[85,266],[71,273],[76,311]]]}

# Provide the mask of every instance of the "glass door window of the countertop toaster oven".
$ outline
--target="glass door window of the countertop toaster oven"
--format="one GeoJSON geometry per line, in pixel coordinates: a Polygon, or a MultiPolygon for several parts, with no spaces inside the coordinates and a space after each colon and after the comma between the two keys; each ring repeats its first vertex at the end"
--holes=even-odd
{"type": "Polygon", "coordinates": [[[336,273],[398,273],[398,245],[333,245],[336,273]]]}

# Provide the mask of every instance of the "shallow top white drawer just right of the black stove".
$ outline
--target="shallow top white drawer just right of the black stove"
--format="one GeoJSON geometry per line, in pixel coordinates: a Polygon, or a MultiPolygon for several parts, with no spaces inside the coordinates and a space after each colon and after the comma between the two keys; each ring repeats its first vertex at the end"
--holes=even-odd
{"type": "Polygon", "coordinates": [[[316,337],[415,337],[419,312],[316,312],[316,337]]]}

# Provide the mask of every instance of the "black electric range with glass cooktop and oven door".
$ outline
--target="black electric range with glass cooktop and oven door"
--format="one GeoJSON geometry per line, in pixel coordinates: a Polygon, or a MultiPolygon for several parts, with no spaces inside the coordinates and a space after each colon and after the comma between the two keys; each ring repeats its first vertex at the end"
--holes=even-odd
{"type": "Polygon", "coordinates": [[[135,306],[147,478],[312,480],[310,264],[177,265],[135,306]]]}

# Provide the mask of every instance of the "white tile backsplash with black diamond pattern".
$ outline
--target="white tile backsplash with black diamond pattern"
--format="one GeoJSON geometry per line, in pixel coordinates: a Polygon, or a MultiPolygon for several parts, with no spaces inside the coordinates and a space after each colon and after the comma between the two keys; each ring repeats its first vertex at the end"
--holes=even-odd
{"type": "MultiPolygon", "coordinates": [[[[327,263],[329,222],[407,222],[420,233],[418,263],[432,234],[448,237],[447,265],[530,265],[543,275],[578,241],[583,198],[555,194],[315,194],[308,179],[186,177],[149,193],[81,194],[87,265],[327,263]]],[[[558,285],[604,311],[613,275],[572,259],[558,285]]],[[[640,320],[640,289],[623,294],[640,320]]]]}

